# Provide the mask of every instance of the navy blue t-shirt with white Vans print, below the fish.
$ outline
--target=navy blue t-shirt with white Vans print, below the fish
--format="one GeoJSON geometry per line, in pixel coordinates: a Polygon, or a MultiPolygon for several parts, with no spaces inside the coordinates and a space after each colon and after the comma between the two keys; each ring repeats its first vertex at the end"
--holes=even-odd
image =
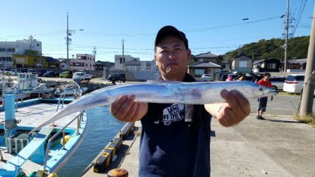
{"type": "Polygon", "coordinates": [[[139,176],[210,176],[210,120],[203,105],[185,122],[184,104],[148,104],[141,119],[139,176]],[[199,118],[201,117],[201,118],[199,118]]]}

